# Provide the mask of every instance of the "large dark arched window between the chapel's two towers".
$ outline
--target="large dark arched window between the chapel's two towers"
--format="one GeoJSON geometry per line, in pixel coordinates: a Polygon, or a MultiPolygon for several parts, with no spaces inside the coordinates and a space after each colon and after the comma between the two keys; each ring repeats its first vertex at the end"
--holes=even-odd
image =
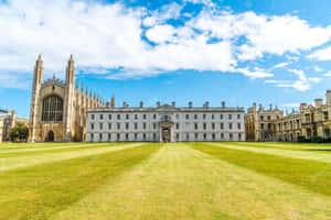
{"type": "Polygon", "coordinates": [[[43,101],[42,121],[60,122],[63,116],[63,99],[50,96],[43,101]]]}

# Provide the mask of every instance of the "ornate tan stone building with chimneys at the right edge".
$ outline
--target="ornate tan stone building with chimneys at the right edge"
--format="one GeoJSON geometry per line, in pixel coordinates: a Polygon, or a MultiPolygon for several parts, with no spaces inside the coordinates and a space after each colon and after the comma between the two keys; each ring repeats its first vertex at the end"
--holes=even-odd
{"type": "Polygon", "coordinates": [[[314,105],[300,105],[300,111],[284,114],[284,111],[259,109],[256,103],[247,110],[245,116],[245,131],[247,141],[298,141],[305,136],[330,139],[331,131],[331,90],[327,91],[327,102],[316,99],[314,105]]]}

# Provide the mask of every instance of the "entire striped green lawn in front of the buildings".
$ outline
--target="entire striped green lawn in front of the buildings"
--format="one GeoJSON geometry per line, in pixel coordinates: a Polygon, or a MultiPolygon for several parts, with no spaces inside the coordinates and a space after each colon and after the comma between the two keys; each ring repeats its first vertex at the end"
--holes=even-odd
{"type": "Polygon", "coordinates": [[[3,143],[11,219],[331,219],[331,145],[3,143]]]}

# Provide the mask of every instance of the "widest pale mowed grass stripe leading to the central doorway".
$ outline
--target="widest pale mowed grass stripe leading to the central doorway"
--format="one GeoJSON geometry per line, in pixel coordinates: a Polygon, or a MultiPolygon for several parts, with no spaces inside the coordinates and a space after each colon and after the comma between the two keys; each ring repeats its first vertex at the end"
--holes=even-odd
{"type": "Polygon", "coordinates": [[[193,150],[164,144],[52,220],[331,218],[331,198],[193,150]]]}

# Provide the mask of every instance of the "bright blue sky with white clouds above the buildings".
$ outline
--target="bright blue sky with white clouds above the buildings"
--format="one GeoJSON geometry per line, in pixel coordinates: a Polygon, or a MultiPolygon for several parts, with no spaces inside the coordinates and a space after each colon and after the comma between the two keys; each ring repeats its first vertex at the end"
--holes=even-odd
{"type": "Polygon", "coordinates": [[[331,89],[331,1],[0,0],[0,108],[29,117],[33,66],[105,99],[285,109],[331,89]]]}

